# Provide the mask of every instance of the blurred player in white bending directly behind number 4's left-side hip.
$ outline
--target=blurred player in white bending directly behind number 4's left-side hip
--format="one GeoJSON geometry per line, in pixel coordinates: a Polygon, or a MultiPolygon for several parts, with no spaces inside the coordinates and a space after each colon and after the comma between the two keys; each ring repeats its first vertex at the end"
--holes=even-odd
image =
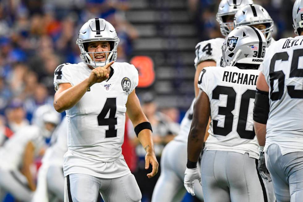
{"type": "Polygon", "coordinates": [[[67,151],[66,117],[53,132],[50,144],[42,158],[32,202],[64,200],[63,156],[67,151]]]}

